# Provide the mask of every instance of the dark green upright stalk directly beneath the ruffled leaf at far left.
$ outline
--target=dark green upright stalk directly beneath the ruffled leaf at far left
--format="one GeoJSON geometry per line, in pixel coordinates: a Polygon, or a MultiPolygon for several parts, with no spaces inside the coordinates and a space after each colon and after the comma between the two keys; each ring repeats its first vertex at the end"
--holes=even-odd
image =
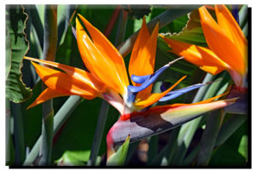
{"type": "Polygon", "coordinates": [[[20,165],[24,162],[25,142],[24,142],[24,128],[20,109],[20,104],[11,103],[11,111],[14,117],[14,133],[15,133],[15,165],[20,165]]]}

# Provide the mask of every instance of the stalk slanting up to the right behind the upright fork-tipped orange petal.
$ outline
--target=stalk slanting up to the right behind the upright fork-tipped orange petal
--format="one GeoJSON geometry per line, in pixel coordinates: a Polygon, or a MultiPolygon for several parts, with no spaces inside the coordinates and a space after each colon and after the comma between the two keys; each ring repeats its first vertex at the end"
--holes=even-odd
{"type": "MultiPolygon", "coordinates": [[[[159,14],[158,16],[154,17],[153,20],[148,22],[148,30],[152,31],[154,29],[154,26],[157,22],[159,22],[159,28],[162,28],[166,25],[168,25],[172,20],[177,19],[180,16],[183,16],[184,14],[188,14],[194,9],[198,9],[200,5],[189,5],[189,6],[183,6],[183,10],[170,8],[167,9],[162,14],[159,14]]],[[[128,39],[125,40],[125,42],[121,43],[118,47],[120,54],[122,54],[124,57],[126,54],[129,54],[131,51],[133,44],[135,43],[135,40],[137,38],[139,30],[131,35],[128,39]]]]}

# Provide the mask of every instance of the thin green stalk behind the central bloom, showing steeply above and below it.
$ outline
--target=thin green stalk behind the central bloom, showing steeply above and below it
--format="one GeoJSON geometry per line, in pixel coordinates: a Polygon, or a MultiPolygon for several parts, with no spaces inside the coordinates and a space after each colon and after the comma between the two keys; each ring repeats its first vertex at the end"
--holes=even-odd
{"type": "MultiPolygon", "coordinates": [[[[125,15],[121,11],[119,14],[119,23],[118,23],[118,29],[116,34],[115,45],[118,45],[120,42],[122,42],[125,37],[126,22],[127,22],[127,15],[125,15]]],[[[108,109],[109,109],[108,102],[105,100],[102,100],[101,112],[98,117],[96,132],[92,141],[90,159],[87,163],[88,166],[96,165],[96,158],[102,143],[102,135],[103,135],[106,120],[108,117],[108,109]]]]}

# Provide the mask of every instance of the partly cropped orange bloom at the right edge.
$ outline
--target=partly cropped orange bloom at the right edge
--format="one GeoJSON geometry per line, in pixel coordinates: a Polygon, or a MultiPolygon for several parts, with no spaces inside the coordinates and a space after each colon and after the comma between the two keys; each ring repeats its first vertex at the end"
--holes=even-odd
{"type": "Polygon", "coordinates": [[[225,5],[215,5],[215,21],[205,6],[199,9],[201,27],[209,48],[163,37],[174,54],[213,75],[226,70],[237,89],[247,88],[247,38],[225,5]]]}

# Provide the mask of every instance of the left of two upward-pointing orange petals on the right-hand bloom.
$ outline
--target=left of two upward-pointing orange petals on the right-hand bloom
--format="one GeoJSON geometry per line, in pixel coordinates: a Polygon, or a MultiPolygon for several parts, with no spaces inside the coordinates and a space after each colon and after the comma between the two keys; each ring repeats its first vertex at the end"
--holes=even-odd
{"type": "Polygon", "coordinates": [[[226,31],[212,19],[211,14],[208,13],[205,7],[199,9],[201,17],[201,26],[207,40],[207,44],[212,51],[218,55],[221,60],[224,60],[233,70],[241,74],[246,72],[243,54],[232,43],[226,31]]]}

